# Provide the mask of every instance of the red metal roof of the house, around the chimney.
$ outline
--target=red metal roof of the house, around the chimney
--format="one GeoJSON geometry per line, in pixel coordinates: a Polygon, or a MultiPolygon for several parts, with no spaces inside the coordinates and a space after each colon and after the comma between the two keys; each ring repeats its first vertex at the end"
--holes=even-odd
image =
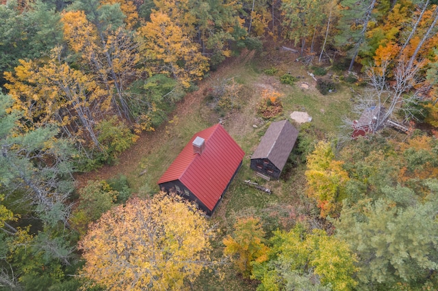
{"type": "Polygon", "coordinates": [[[179,180],[209,210],[213,210],[244,154],[222,125],[216,124],[193,135],[159,178],[158,184],[179,180]],[[205,149],[201,154],[193,151],[192,142],[196,137],[205,139],[205,149]]]}

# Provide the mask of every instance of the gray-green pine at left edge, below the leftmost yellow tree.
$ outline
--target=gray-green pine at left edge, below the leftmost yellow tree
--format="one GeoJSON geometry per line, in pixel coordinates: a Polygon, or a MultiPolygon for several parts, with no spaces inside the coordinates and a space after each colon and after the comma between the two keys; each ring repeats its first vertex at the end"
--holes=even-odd
{"type": "Polygon", "coordinates": [[[64,140],[55,138],[58,131],[54,126],[21,133],[16,124],[19,113],[6,113],[10,105],[10,97],[0,94],[3,193],[6,198],[24,194],[17,202],[34,205],[34,211],[47,223],[68,224],[70,210],[65,203],[73,191],[69,160],[73,151],[64,140]]]}

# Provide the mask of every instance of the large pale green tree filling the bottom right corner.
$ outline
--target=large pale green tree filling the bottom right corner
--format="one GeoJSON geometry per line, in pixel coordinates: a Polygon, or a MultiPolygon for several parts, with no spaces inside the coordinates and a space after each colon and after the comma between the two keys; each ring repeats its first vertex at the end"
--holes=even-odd
{"type": "MultiPolygon", "coordinates": [[[[392,191],[395,197],[406,195],[400,189],[392,191]]],[[[358,287],[388,290],[399,283],[426,283],[438,268],[436,213],[436,193],[405,208],[383,199],[344,207],[335,221],[336,236],[358,255],[358,287]]]]}

